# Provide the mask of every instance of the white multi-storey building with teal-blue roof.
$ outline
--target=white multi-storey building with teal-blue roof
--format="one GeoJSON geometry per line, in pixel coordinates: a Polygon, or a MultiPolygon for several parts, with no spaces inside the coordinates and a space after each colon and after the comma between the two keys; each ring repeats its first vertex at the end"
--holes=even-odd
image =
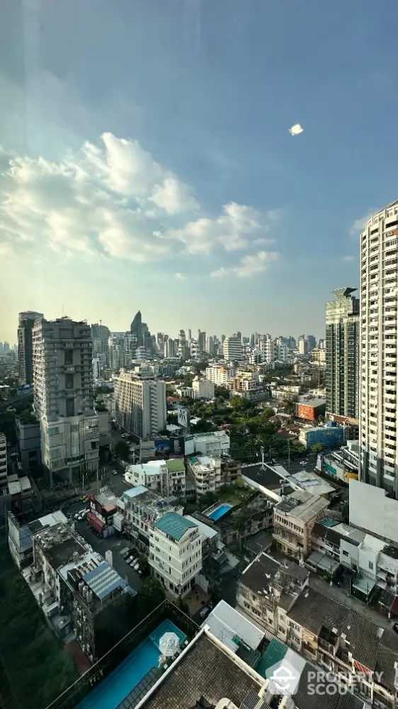
{"type": "Polygon", "coordinates": [[[149,564],[168,593],[186,596],[202,569],[202,535],[191,520],[169,512],[149,532],[149,564]]]}

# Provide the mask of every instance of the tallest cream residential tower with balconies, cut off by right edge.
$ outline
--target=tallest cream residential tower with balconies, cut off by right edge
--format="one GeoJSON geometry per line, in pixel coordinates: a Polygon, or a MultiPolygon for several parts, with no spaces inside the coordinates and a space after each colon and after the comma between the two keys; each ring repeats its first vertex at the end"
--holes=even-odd
{"type": "Polygon", "coordinates": [[[360,235],[360,478],[398,498],[398,200],[360,235]]]}

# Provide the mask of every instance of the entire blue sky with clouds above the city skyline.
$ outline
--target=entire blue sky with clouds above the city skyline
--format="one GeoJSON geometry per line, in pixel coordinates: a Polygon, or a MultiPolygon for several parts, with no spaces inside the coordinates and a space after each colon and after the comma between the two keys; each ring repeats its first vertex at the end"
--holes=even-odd
{"type": "Polygon", "coordinates": [[[397,0],[1,13],[0,340],[25,310],[322,337],[397,199],[397,0]]]}

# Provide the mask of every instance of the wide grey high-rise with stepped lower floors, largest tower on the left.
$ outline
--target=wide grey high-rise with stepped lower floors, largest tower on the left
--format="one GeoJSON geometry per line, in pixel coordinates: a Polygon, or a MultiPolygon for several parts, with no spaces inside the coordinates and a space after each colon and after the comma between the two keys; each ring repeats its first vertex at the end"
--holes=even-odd
{"type": "Polygon", "coordinates": [[[70,318],[35,320],[32,343],[42,464],[51,483],[53,473],[72,482],[98,467],[90,326],[70,318]]]}

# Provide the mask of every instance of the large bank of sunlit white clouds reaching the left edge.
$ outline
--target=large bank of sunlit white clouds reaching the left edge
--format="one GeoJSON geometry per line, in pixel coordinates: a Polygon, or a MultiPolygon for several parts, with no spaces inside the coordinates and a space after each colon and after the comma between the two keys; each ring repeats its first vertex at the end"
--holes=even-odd
{"type": "MultiPolygon", "coordinates": [[[[188,185],[137,140],[112,133],[59,162],[0,150],[2,252],[50,247],[64,255],[135,262],[173,257],[176,250],[209,255],[273,243],[277,219],[275,211],[261,213],[236,202],[225,204],[216,218],[205,216],[188,185]]],[[[239,275],[254,269],[246,258],[251,264],[248,255],[230,270],[239,275]]],[[[263,270],[261,257],[254,259],[263,270]]]]}

